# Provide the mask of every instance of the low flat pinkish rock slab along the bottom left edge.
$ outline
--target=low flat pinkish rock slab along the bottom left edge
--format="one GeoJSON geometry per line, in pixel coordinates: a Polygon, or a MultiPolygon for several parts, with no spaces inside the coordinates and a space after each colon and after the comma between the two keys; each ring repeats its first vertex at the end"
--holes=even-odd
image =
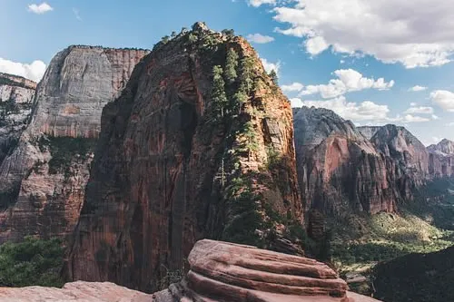
{"type": "Polygon", "coordinates": [[[63,288],[23,287],[0,288],[1,302],[145,302],[153,301],[152,295],[120,287],[109,282],[67,283],[63,288]]]}

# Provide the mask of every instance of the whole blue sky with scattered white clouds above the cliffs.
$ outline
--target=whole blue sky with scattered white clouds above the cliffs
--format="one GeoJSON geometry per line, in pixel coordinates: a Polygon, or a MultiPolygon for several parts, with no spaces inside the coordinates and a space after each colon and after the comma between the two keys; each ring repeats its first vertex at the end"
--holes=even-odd
{"type": "Polygon", "coordinates": [[[454,140],[450,0],[2,0],[0,71],[39,79],[70,44],[152,48],[195,21],[248,37],[296,105],[454,140]]]}

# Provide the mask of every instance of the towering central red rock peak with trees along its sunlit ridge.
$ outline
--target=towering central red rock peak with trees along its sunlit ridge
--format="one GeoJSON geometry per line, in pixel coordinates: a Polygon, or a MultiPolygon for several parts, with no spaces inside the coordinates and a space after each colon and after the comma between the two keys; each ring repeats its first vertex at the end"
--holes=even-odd
{"type": "Polygon", "coordinates": [[[194,24],[104,107],[68,273],[153,291],[198,239],[266,247],[301,220],[290,102],[244,39],[194,24]]]}

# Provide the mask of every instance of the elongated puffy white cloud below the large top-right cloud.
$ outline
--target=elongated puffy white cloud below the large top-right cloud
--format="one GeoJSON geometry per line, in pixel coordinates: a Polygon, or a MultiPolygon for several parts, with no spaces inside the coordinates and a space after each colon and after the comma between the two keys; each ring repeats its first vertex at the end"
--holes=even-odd
{"type": "Polygon", "coordinates": [[[364,89],[388,90],[394,86],[394,81],[386,83],[383,78],[375,81],[366,78],[352,69],[340,69],[334,72],[338,79],[332,79],[328,84],[307,85],[301,95],[320,93],[323,99],[331,99],[345,93],[358,92],[364,89]]]}

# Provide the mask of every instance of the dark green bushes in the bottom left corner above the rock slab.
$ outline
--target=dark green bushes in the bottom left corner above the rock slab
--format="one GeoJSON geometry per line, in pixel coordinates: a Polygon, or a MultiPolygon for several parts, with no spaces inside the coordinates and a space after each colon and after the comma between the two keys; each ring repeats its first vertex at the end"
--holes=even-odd
{"type": "Polygon", "coordinates": [[[0,287],[62,287],[64,250],[59,239],[26,237],[0,246],[0,287]]]}

